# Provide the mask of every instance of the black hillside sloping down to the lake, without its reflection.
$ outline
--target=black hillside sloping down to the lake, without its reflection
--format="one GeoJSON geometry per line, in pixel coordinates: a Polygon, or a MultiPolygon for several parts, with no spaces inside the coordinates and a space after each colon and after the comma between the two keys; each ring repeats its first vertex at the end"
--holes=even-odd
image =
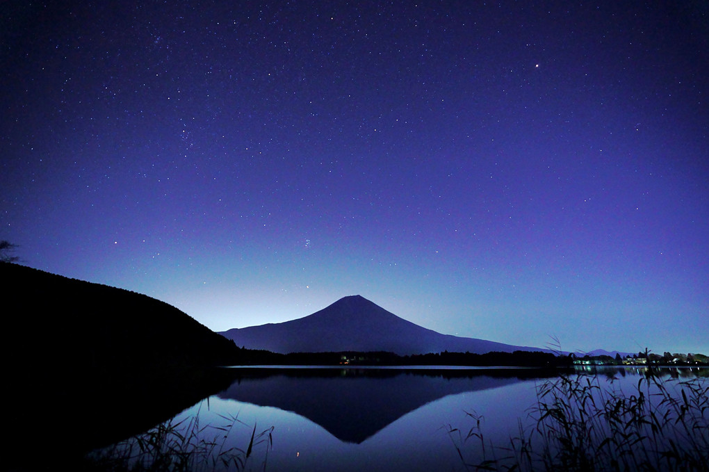
{"type": "Polygon", "coordinates": [[[155,298],[1,264],[5,327],[23,339],[14,363],[62,369],[182,369],[229,364],[232,342],[155,298]]]}

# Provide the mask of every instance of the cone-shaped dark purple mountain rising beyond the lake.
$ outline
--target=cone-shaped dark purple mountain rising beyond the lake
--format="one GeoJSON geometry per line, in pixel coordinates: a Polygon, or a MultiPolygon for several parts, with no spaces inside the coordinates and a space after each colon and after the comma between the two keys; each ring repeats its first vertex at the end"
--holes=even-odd
{"type": "Polygon", "coordinates": [[[471,337],[442,335],[399,318],[359,295],[340,298],[312,315],[282,323],[233,328],[219,333],[237,346],[271,352],[428,352],[541,351],[471,337]]]}

